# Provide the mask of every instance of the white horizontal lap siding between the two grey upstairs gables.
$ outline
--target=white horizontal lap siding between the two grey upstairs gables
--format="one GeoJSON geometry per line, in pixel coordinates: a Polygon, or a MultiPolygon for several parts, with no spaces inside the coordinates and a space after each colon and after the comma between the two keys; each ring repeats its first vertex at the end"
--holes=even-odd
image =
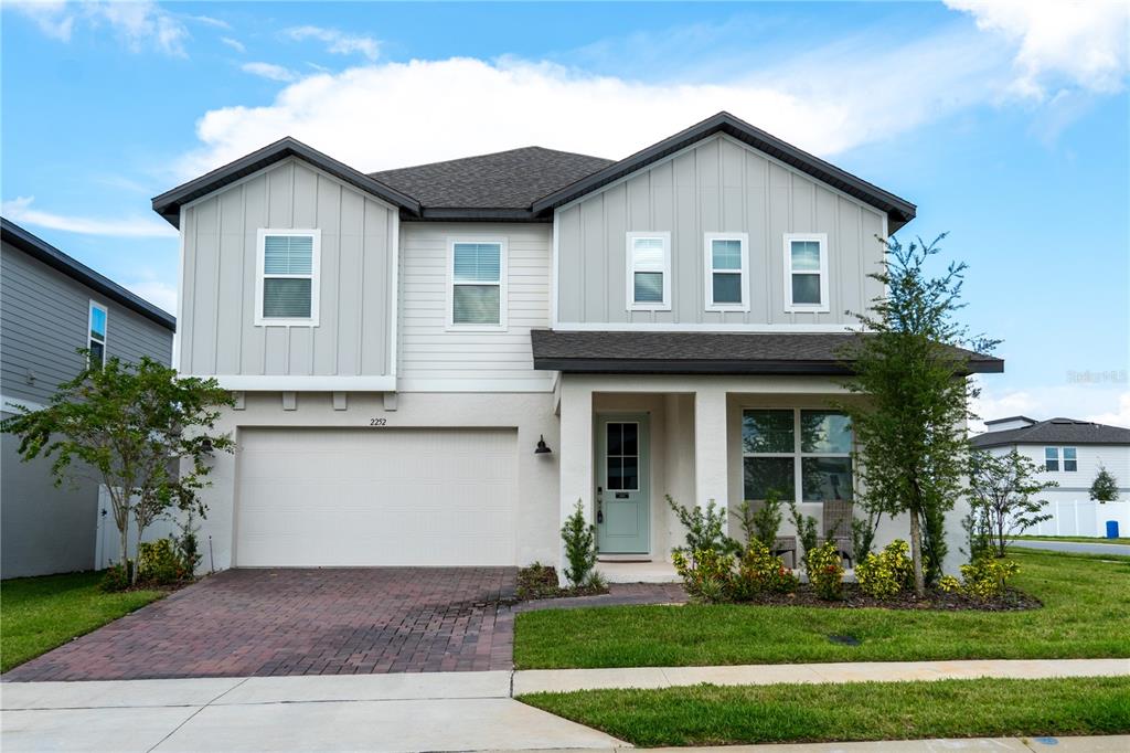
{"type": "Polygon", "coordinates": [[[547,224],[403,223],[400,230],[399,387],[403,391],[542,391],[530,329],[549,327],[547,224]],[[505,239],[505,331],[447,329],[447,244],[505,239]]]}

